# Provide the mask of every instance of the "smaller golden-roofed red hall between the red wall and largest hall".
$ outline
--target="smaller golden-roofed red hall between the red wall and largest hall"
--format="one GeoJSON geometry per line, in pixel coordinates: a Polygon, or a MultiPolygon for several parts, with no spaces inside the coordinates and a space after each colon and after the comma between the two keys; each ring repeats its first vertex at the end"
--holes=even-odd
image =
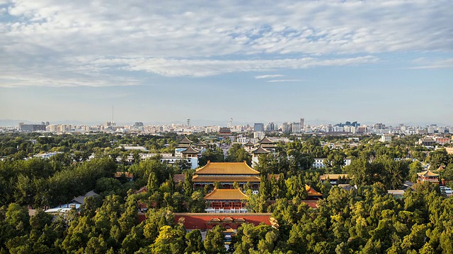
{"type": "Polygon", "coordinates": [[[205,195],[207,208],[205,212],[241,213],[247,212],[248,196],[239,189],[217,189],[205,195]]]}

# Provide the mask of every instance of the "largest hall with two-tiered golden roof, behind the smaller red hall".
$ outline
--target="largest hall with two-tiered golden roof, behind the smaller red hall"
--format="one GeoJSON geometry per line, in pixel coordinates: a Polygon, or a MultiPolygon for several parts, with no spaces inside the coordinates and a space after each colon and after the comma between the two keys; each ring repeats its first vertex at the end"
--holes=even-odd
{"type": "Polygon", "coordinates": [[[195,171],[192,178],[194,188],[214,186],[214,182],[222,184],[224,189],[233,188],[236,182],[239,186],[251,184],[253,190],[260,186],[260,172],[252,169],[244,162],[210,162],[205,167],[195,171]]]}

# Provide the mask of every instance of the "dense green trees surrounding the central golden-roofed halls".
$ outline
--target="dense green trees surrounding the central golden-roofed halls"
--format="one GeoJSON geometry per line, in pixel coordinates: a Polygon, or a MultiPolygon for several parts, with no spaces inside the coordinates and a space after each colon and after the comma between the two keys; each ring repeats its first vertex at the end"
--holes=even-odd
{"type": "MultiPolygon", "coordinates": [[[[189,138],[210,144],[200,164],[251,163],[238,144],[224,157],[218,139],[189,138]]],[[[122,159],[131,153],[122,144],[171,153],[178,139],[173,134],[1,134],[0,253],[453,253],[453,201],[439,186],[417,183],[402,198],[387,193],[415,181],[427,163],[431,169],[443,168],[437,173],[451,184],[452,155],[414,145],[416,136],[390,144],[372,136],[355,144],[310,136],[277,143],[275,155],[260,157],[255,169],[280,177],[262,177],[258,195],[251,195],[248,186],[243,191],[251,195],[248,210],[272,212],[278,227],[243,224],[228,250],[222,227],[186,232],[174,222],[173,212],[205,209],[203,197],[209,190],[193,189],[193,170],[159,157],[140,161],[134,152],[134,164],[122,159]],[[62,153],[25,160],[50,151],[62,153]],[[352,159],[347,167],[346,157],[352,159]],[[314,158],[326,158],[326,167],[313,168],[314,158]],[[134,181],[113,177],[117,171],[133,173],[134,181]],[[348,173],[357,189],[322,184],[324,173],[348,173]],[[185,174],[185,181],[176,183],[175,174],[185,174]],[[305,184],[323,193],[316,209],[302,202],[305,184]],[[143,186],[147,191],[136,193],[143,186]],[[80,211],[55,217],[43,212],[91,190],[100,195],[87,198],[80,211]],[[268,205],[268,200],[275,202],[268,205]],[[137,217],[140,203],[150,207],[143,222],[137,217]],[[33,216],[29,208],[36,209],[33,216]]]]}

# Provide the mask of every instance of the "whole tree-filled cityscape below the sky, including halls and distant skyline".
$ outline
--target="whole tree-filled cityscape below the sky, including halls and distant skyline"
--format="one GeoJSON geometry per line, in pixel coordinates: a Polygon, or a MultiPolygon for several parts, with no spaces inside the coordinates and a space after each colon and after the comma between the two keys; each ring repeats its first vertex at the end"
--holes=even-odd
{"type": "Polygon", "coordinates": [[[453,127],[0,128],[0,253],[453,253],[453,127]]]}

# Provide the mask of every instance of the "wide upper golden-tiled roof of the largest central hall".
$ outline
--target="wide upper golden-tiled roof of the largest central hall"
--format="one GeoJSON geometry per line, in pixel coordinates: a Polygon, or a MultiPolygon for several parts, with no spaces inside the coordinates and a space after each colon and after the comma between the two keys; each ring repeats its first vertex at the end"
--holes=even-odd
{"type": "Polygon", "coordinates": [[[195,171],[195,174],[239,174],[258,175],[259,171],[252,169],[244,162],[210,162],[195,171]]]}

